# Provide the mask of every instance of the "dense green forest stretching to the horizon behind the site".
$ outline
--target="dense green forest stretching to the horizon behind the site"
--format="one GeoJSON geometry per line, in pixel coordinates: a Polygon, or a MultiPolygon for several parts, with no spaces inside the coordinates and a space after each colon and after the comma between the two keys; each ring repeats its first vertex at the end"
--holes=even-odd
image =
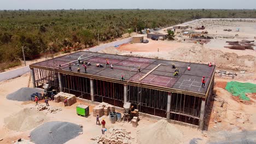
{"type": "Polygon", "coordinates": [[[201,18],[256,18],[256,10],[0,10],[0,68],[40,54],[68,52],[111,41],[144,28],[167,27],[201,18]],[[79,43],[79,44],[78,44],[79,43]]]}

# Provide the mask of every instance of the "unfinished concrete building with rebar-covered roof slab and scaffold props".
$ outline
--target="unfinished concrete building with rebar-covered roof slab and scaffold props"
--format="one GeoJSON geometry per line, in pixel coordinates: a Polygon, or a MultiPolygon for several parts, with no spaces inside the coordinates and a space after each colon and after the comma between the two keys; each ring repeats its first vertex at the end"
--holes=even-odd
{"type": "Polygon", "coordinates": [[[203,128],[205,109],[214,85],[215,67],[162,59],[80,51],[30,65],[34,87],[48,83],[57,91],[123,107],[130,102],[139,112],[203,128]],[[81,61],[91,62],[84,73],[81,61]],[[106,67],[106,59],[114,69],[106,67]],[[72,71],[69,70],[69,63],[72,71]],[[97,63],[103,68],[96,67],[97,63]],[[175,64],[179,76],[174,77],[175,64]],[[59,68],[61,64],[61,68],[59,68]],[[187,70],[190,65],[191,70],[187,70]],[[80,67],[80,73],[77,68],[80,67]],[[141,72],[137,71],[138,67],[141,72]],[[124,76],[124,80],[120,80],[124,76]],[[201,78],[205,76],[205,87],[201,78]]]}

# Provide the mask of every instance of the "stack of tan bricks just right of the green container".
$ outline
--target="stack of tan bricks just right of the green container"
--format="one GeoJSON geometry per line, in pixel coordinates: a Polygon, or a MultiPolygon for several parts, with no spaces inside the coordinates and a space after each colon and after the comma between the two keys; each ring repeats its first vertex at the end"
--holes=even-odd
{"type": "Polygon", "coordinates": [[[97,115],[99,117],[102,117],[103,115],[108,116],[110,109],[111,109],[111,111],[113,111],[113,110],[115,111],[115,107],[113,105],[109,105],[108,103],[102,102],[101,104],[95,106],[92,109],[92,113],[93,113],[94,117],[96,117],[97,115]]]}

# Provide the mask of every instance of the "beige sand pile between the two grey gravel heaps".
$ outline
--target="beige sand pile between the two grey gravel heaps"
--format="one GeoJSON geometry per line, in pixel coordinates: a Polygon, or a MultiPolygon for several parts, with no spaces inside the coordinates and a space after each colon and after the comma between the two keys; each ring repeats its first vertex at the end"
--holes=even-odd
{"type": "Polygon", "coordinates": [[[33,109],[23,109],[12,116],[4,118],[5,127],[10,130],[26,131],[36,128],[38,125],[48,121],[45,113],[33,109]]]}

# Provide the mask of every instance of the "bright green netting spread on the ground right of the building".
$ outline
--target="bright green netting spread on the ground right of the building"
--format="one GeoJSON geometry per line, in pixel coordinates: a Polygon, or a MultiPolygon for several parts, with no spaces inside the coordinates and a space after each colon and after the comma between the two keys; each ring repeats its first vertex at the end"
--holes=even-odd
{"type": "Polygon", "coordinates": [[[242,100],[250,100],[250,98],[246,97],[246,93],[256,93],[256,85],[249,82],[230,81],[226,84],[225,89],[232,95],[239,96],[242,100]]]}

